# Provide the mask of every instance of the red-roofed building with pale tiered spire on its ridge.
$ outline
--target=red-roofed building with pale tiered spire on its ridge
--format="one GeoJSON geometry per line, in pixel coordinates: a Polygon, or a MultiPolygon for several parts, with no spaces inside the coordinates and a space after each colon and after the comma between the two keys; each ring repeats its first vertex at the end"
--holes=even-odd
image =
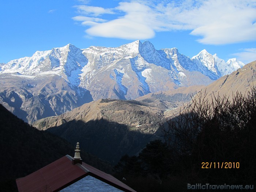
{"type": "Polygon", "coordinates": [[[136,192],[112,175],[82,162],[79,143],[74,158],[66,155],[16,179],[16,184],[19,192],[136,192]]]}

